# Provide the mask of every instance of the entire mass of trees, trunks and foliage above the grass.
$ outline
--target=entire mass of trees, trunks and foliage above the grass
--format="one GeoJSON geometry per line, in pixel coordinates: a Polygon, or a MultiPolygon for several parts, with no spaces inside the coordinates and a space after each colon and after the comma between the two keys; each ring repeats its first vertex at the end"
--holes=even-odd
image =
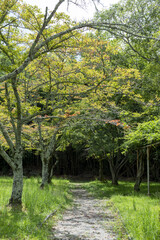
{"type": "Polygon", "coordinates": [[[54,175],[132,178],[136,191],[160,178],[159,0],[122,0],[80,23],[57,13],[63,2],[45,14],[0,2],[0,174],[13,175],[11,204],[23,176],[42,176],[42,188],[54,175]]]}

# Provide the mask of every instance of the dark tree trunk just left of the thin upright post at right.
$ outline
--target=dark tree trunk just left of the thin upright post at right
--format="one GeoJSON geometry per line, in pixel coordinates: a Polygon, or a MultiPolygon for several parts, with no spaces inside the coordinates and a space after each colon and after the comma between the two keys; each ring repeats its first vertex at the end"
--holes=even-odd
{"type": "Polygon", "coordinates": [[[137,177],[134,185],[134,190],[136,192],[140,191],[140,184],[142,182],[142,176],[144,172],[144,163],[143,163],[143,157],[142,152],[139,156],[139,151],[137,150],[137,177]]]}

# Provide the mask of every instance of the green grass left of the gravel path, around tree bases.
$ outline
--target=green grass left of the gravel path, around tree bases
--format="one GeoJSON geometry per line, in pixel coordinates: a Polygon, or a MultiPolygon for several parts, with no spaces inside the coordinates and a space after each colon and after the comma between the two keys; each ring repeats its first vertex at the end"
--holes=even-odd
{"type": "Polygon", "coordinates": [[[23,209],[7,207],[11,195],[12,179],[0,177],[0,239],[45,240],[51,235],[54,221],[72,202],[69,181],[54,179],[52,184],[41,190],[37,178],[24,179],[23,209]],[[52,212],[54,217],[41,223],[52,212]]]}

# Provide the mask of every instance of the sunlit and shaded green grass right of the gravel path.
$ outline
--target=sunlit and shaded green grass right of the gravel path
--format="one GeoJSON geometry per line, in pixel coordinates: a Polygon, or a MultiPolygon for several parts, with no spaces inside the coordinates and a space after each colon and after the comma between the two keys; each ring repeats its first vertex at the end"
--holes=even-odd
{"type": "Polygon", "coordinates": [[[150,197],[147,196],[145,183],[139,193],[133,191],[133,185],[131,182],[120,182],[119,186],[112,186],[110,182],[94,181],[84,184],[84,187],[98,198],[110,198],[110,204],[119,213],[129,239],[159,240],[160,184],[151,183],[150,197]]]}

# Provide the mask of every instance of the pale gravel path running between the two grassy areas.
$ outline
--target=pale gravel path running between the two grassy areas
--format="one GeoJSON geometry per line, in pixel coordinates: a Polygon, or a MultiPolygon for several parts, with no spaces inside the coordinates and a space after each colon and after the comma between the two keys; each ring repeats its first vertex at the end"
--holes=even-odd
{"type": "Polygon", "coordinates": [[[54,240],[115,240],[114,215],[106,200],[91,197],[76,185],[73,191],[74,206],[53,228],[54,240]]]}

